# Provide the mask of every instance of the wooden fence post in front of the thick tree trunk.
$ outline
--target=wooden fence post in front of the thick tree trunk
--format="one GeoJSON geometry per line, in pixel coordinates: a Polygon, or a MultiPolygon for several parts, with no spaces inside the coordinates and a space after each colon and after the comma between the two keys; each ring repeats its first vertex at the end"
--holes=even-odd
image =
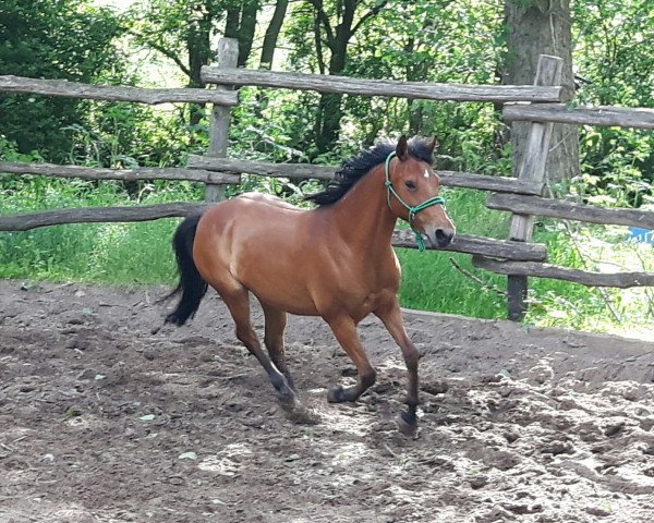
{"type": "MultiPolygon", "coordinates": [[[[538,57],[538,66],[534,85],[556,86],[561,83],[564,60],[549,54],[538,57]]],[[[526,148],[518,169],[518,179],[524,182],[542,183],[545,180],[545,163],[552,138],[552,123],[532,122],[526,141],[526,148]]],[[[534,217],[531,215],[512,215],[509,240],[529,242],[532,238],[534,217]]],[[[520,321],[526,313],[526,276],[509,275],[508,277],[508,318],[520,321]]]]}

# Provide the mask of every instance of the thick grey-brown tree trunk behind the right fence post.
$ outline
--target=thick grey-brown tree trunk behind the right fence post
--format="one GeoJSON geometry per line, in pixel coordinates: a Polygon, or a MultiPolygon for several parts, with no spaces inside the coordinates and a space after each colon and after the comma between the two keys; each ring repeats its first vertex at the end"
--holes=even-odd
{"type": "MultiPolygon", "coordinates": [[[[538,54],[554,54],[564,59],[562,85],[572,93],[574,80],[569,0],[506,0],[505,22],[508,52],[504,83],[531,85],[536,74],[538,54]]],[[[511,125],[513,174],[522,160],[529,126],[528,122],[514,122],[511,125]]],[[[555,124],[547,158],[547,180],[569,180],[578,174],[577,126],[555,124]]]]}

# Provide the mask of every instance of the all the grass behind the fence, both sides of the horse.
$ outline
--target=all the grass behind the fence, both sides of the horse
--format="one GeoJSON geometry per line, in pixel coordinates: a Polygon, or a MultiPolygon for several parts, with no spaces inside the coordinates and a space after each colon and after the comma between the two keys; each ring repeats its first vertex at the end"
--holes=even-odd
{"type": "MultiPolygon", "coordinates": [[[[3,181],[4,182],[4,181],[3,181]]],[[[15,179],[3,183],[0,214],[41,208],[125,205],[197,198],[202,187],[184,182],[144,185],[135,195],[116,183],[15,179]],[[9,186],[9,187],[8,187],[9,186]]],[[[485,194],[452,188],[448,214],[462,234],[506,239],[508,215],[483,205],[485,194]]],[[[170,284],[175,279],[170,239],[179,220],[142,223],[56,226],[0,233],[0,277],[101,283],[170,284]]],[[[544,222],[534,241],[546,243],[549,260],[589,270],[654,270],[654,248],[625,242],[625,228],[564,228],[544,222]]],[[[506,277],[472,267],[457,253],[397,251],[402,264],[403,306],[479,318],[506,316],[506,277]],[[456,266],[455,266],[456,264],[456,266]]],[[[650,289],[589,289],[549,279],[530,279],[526,325],[644,335],[654,317],[650,289]]]]}

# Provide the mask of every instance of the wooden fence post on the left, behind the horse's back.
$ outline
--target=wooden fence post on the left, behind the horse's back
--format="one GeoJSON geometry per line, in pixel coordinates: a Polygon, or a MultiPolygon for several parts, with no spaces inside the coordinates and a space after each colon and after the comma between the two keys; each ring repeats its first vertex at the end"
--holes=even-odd
{"type": "MultiPolygon", "coordinates": [[[[220,38],[218,41],[218,68],[235,69],[238,59],[239,40],[235,38],[220,38]]],[[[232,89],[232,87],[225,85],[218,85],[216,88],[223,90],[232,89]]],[[[228,106],[214,105],[207,156],[218,158],[227,157],[230,118],[231,108],[228,106]]],[[[225,185],[207,183],[205,185],[205,202],[219,202],[221,199],[225,199],[225,185]]]]}

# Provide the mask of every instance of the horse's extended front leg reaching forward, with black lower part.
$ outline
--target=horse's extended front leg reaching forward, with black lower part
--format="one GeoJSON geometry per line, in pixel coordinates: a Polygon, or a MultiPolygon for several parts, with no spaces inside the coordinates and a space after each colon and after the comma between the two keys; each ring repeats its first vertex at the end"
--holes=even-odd
{"type": "Polygon", "coordinates": [[[404,329],[404,323],[402,320],[402,312],[400,311],[397,299],[374,311],[374,313],[375,316],[382,320],[396,343],[400,345],[402,356],[404,356],[404,363],[407,364],[407,370],[409,372],[409,382],[407,386],[408,409],[401,413],[399,428],[403,434],[411,436],[415,434],[417,428],[415,411],[419,404],[417,361],[420,355],[417,349],[415,349],[415,345],[407,335],[407,329],[404,329]]]}

